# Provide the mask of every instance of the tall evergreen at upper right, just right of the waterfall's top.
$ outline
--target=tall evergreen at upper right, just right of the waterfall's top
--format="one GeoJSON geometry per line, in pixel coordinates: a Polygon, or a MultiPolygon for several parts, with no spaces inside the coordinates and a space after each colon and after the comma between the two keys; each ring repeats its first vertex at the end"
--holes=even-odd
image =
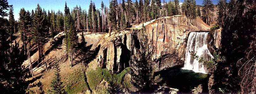
{"type": "Polygon", "coordinates": [[[227,1],[226,0],[219,0],[218,1],[218,25],[223,27],[224,24],[224,18],[227,15],[227,1]]]}

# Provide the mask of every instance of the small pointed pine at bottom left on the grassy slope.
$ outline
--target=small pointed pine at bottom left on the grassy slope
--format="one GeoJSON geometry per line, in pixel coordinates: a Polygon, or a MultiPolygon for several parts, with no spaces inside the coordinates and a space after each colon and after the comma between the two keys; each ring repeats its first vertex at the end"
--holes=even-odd
{"type": "Polygon", "coordinates": [[[59,61],[60,60],[57,60],[55,57],[55,63],[53,65],[54,77],[51,81],[51,89],[48,90],[48,94],[66,94],[63,82],[61,81],[60,69],[58,65],[59,61]]]}

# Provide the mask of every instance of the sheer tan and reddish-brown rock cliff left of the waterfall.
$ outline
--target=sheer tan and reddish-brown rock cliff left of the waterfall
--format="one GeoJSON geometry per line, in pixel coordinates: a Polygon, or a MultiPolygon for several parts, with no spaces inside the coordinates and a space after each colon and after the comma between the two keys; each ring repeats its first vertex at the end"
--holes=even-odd
{"type": "MultiPolygon", "coordinates": [[[[184,50],[189,32],[209,29],[209,26],[201,22],[199,19],[177,15],[144,23],[147,37],[155,47],[152,59],[156,59],[156,70],[184,65],[184,50]]],[[[110,39],[102,42],[98,66],[112,72],[121,72],[134,62],[132,60],[135,56],[140,57],[137,52],[140,49],[141,26],[142,24],[134,25],[130,31],[111,35],[110,39]]]]}

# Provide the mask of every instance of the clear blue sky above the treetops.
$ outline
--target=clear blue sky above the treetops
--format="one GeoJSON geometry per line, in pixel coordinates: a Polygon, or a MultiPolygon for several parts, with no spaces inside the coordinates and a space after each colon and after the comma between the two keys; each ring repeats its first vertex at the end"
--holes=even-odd
{"type": "MultiPolygon", "coordinates": [[[[88,10],[90,0],[8,0],[9,5],[13,5],[14,8],[14,18],[15,20],[19,19],[19,12],[21,8],[25,8],[25,10],[28,10],[31,12],[31,10],[35,10],[37,7],[37,3],[41,6],[41,8],[44,8],[46,12],[51,9],[55,11],[55,13],[60,10],[64,11],[65,1],[67,2],[67,5],[69,9],[74,8],[76,5],[80,5],[82,9],[88,10]]],[[[92,2],[95,3],[96,8],[100,8],[101,1],[104,2],[106,6],[109,6],[109,0],[92,0],[92,2]]],[[[119,0],[117,0],[119,2],[119,0]]],[[[120,0],[122,1],[122,0],[120,0]]],[[[125,0],[127,1],[127,0],[125,0]]],[[[135,0],[132,0],[135,1],[135,0]]],[[[139,0],[138,0],[139,1],[139,0]]],[[[163,1],[163,0],[162,0],[163,1]]],[[[165,0],[170,1],[170,0],[165,0]]],[[[184,0],[180,0],[180,2],[183,2],[184,0]]],[[[203,0],[196,0],[197,5],[202,5],[203,0]]],[[[212,0],[214,4],[217,4],[217,0],[212,0]]],[[[8,11],[9,12],[9,11],[8,11]]],[[[8,17],[6,17],[8,18],[8,17]]]]}

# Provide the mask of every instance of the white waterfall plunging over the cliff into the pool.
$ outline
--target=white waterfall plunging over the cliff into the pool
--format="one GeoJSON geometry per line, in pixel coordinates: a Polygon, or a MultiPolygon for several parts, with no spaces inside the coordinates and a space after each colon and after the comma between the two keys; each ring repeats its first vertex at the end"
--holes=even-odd
{"type": "Polygon", "coordinates": [[[185,64],[182,69],[193,70],[194,72],[207,73],[204,65],[199,63],[198,60],[193,59],[190,55],[189,51],[193,51],[199,57],[203,57],[204,59],[211,59],[213,56],[208,50],[207,45],[207,35],[208,32],[191,32],[188,36],[188,43],[186,47],[186,55],[185,55],[185,64]]]}

